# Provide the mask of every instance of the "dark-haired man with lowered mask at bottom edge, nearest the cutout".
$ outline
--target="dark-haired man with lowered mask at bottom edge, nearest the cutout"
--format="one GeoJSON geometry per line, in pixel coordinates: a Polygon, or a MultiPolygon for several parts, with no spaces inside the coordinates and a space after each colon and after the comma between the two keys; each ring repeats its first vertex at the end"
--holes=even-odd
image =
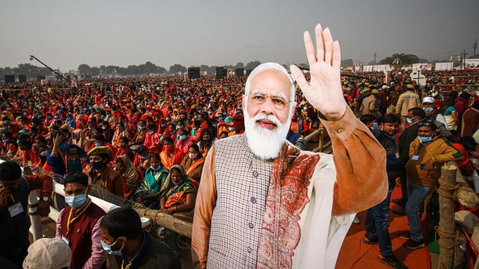
{"type": "Polygon", "coordinates": [[[166,245],[143,231],[140,216],[132,208],[111,210],[100,227],[110,269],[181,268],[166,245]]]}

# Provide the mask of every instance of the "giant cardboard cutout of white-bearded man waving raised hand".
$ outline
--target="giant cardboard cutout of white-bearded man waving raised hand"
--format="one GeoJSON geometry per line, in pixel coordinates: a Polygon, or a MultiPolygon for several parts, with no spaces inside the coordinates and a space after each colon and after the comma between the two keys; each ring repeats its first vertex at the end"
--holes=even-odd
{"type": "Polygon", "coordinates": [[[293,79],[276,63],[255,68],[244,134],[216,141],[206,157],[191,242],[197,268],[334,268],[355,213],[385,198],[386,154],[343,98],[339,42],[320,24],[316,41],[317,51],[304,33],[311,80],[290,70],[334,155],[287,142],[293,79]]]}

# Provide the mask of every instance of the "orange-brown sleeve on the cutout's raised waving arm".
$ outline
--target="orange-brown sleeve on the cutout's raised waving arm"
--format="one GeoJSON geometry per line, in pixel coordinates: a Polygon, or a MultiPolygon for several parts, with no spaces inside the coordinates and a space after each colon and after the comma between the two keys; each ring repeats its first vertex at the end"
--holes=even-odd
{"type": "Polygon", "coordinates": [[[353,112],[336,122],[321,120],[331,137],[336,183],[333,215],[366,210],[387,195],[386,151],[353,112]]]}

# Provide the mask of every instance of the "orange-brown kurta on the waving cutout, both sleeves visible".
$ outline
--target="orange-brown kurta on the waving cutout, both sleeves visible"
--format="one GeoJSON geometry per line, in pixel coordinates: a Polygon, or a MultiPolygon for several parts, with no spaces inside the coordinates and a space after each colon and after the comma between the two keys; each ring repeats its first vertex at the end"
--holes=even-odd
{"type": "MultiPolygon", "coordinates": [[[[369,129],[350,109],[337,122],[321,122],[331,137],[337,172],[332,214],[360,212],[384,200],[388,184],[386,152],[369,129]]],[[[196,196],[191,238],[196,268],[206,268],[208,259],[210,225],[216,202],[214,151],[213,146],[208,152],[196,196]]]]}

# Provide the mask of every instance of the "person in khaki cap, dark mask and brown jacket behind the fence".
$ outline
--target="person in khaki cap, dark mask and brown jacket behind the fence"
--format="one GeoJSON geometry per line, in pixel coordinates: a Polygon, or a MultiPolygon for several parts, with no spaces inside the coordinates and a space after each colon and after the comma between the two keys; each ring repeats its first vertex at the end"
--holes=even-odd
{"type": "Polygon", "coordinates": [[[91,166],[88,171],[89,182],[116,196],[123,197],[121,175],[107,166],[111,161],[110,149],[104,146],[94,147],[88,152],[88,157],[91,166]]]}

